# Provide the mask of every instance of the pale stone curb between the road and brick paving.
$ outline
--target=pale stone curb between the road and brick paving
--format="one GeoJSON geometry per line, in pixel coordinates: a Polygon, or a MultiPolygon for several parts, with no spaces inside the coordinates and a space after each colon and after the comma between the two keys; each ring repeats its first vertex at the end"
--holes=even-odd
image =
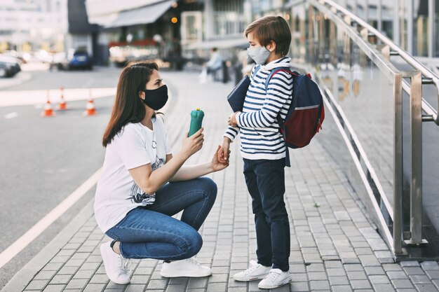
{"type": "Polygon", "coordinates": [[[55,256],[65,246],[72,235],[77,232],[93,215],[93,202],[90,200],[78,215],[52,239],[49,244],[42,249],[32,260],[22,267],[14,277],[8,281],[1,292],[23,291],[26,286],[34,279],[35,275],[46,265],[53,256],[55,256]]]}

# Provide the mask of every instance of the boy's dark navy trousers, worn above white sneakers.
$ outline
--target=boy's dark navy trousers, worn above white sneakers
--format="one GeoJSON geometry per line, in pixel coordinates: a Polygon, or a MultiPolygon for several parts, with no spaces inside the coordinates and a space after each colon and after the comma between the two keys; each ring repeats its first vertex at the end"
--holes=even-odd
{"type": "Polygon", "coordinates": [[[244,176],[252,197],[257,238],[257,262],[266,267],[289,270],[290,223],[283,202],[285,158],[244,158],[244,176]],[[271,239],[271,240],[270,240],[271,239]]]}

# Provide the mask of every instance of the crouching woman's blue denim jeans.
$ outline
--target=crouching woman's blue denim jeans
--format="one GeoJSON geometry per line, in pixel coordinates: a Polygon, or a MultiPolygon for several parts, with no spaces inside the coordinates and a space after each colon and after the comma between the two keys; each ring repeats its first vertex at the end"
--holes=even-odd
{"type": "Polygon", "coordinates": [[[203,245],[197,230],[216,196],[217,185],[207,177],[166,183],[156,192],[154,204],[131,210],[106,234],[121,242],[124,258],[190,258],[203,245]],[[181,221],[171,217],[182,210],[181,221]]]}

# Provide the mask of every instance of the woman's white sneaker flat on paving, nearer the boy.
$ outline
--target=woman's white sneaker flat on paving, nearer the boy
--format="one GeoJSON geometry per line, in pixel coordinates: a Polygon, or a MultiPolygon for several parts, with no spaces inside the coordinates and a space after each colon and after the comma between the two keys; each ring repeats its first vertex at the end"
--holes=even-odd
{"type": "Polygon", "coordinates": [[[163,263],[160,271],[161,277],[208,277],[212,274],[210,267],[200,265],[194,258],[186,260],[175,260],[170,263],[163,263]]]}

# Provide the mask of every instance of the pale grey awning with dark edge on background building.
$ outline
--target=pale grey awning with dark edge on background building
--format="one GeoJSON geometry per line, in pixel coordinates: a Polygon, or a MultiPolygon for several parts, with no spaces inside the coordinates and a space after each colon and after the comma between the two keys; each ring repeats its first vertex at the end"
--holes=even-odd
{"type": "Polygon", "coordinates": [[[158,4],[122,11],[117,18],[105,27],[127,27],[129,25],[147,25],[155,22],[166,13],[175,0],[163,1],[158,4]]]}

